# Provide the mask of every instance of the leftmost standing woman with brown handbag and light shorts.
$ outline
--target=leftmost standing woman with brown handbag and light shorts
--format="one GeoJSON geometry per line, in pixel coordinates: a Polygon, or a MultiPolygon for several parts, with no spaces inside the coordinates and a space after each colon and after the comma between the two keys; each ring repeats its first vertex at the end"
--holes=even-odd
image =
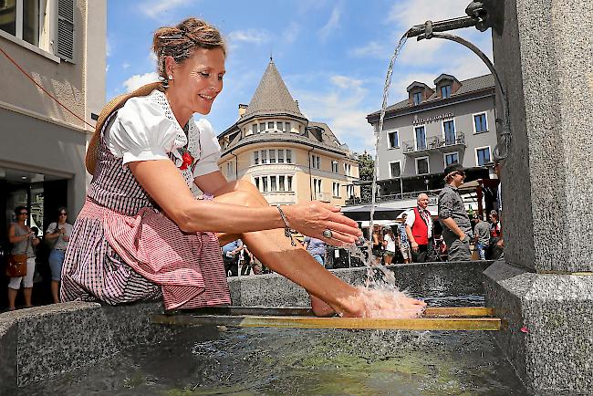
{"type": "Polygon", "coordinates": [[[6,268],[6,276],[10,277],[8,282],[8,310],[15,310],[16,293],[23,283],[23,294],[25,295],[25,307],[33,307],[31,296],[33,295],[33,276],[35,276],[35,251],[33,247],[39,243],[39,239],[33,231],[25,224],[29,212],[25,206],[16,206],[16,223],[8,227],[8,240],[13,244],[10,252],[9,264],[6,268]],[[26,270],[24,263],[26,262],[26,270]],[[23,274],[23,272],[25,272],[23,274]]]}

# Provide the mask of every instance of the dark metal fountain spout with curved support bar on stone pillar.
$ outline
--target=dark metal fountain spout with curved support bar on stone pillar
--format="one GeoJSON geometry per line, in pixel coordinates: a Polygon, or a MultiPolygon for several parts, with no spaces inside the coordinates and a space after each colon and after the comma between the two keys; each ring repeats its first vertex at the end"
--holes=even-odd
{"type": "Polygon", "coordinates": [[[501,103],[503,106],[503,118],[496,119],[496,125],[500,128],[501,132],[498,139],[498,145],[494,149],[494,159],[504,160],[508,155],[509,147],[511,144],[511,124],[509,118],[509,107],[508,99],[506,98],[505,89],[501,83],[498,73],[494,68],[492,61],[484,55],[484,53],[475,47],[469,41],[463,39],[460,36],[454,36],[448,33],[450,30],[462,29],[464,27],[475,26],[481,32],[485,32],[488,28],[492,27],[494,32],[500,34],[503,31],[503,15],[505,11],[504,0],[478,0],[473,1],[470,5],[465,8],[465,14],[467,16],[461,16],[458,18],[447,19],[444,21],[426,21],[423,25],[411,26],[405,34],[408,38],[418,37],[417,39],[431,39],[431,38],[443,38],[451,40],[456,43],[468,47],[473,51],[475,55],[480,57],[486,67],[490,69],[490,72],[494,76],[494,83],[500,95],[501,103]]]}

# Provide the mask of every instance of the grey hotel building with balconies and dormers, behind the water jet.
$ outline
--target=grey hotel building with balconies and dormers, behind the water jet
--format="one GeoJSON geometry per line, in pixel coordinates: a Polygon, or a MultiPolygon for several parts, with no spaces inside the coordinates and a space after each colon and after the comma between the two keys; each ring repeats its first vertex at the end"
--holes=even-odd
{"type": "MultiPolygon", "coordinates": [[[[428,85],[414,81],[408,99],[391,105],[380,133],[380,195],[412,196],[443,185],[444,168],[460,162],[470,180],[492,174],[496,145],[494,78],[458,81],[442,74],[428,85]]],[[[375,130],[380,111],[367,116],[375,130]]]]}

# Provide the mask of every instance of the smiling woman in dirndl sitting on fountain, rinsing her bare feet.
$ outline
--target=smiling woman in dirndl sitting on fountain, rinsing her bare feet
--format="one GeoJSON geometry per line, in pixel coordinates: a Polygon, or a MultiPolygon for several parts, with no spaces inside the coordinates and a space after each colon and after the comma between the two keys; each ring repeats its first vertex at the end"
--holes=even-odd
{"type": "Polygon", "coordinates": [[[153,50],[161,82],[115,99],[99,117],[87,153],[93,180],[68,245],[62,301],[228,305],[219,246],[241,238],[265,266],[307,289],[317,315],[421,312],[421,301],[350,286],[292,240],[290,228],[332,245],[354,243],[361,233],[339,207],[270,206],[253,184],[227,182],[219,172],[212,126],[192,119],[208,114],[223,89],[226,49],[215,27],[195,18],[162,27],[153,50]]]}

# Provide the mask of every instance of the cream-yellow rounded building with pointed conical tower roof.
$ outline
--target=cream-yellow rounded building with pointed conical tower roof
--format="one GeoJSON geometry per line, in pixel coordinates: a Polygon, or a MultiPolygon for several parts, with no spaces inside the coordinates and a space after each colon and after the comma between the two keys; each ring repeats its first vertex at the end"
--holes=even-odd
{"type": "Polygon", "coordinates": [[[218,141],[221,172],[253,182],[268,203],[344,205],[360,194],[357,156],[327,124],[307,120],[272,59],[249,105],[239,105],[239,120],[218,141]]]}

